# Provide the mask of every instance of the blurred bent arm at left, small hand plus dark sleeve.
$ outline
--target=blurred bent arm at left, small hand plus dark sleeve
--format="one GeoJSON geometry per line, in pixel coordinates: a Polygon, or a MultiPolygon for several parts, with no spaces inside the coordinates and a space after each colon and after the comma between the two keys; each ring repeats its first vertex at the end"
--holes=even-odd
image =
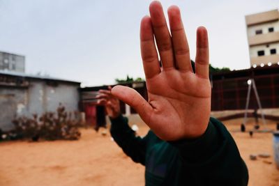
{"type": "Polygon", "coordinates": [[[108,90],[100,90],[97,97],[98,104],[105,105],[108,116],[112,123],[110,133],[116,144],[118,144],[124,153],[132,158],[134,162],[145,164],[146,155],[146,137],[136,137],[135,132],[128,125],[128,118],[123,117],[120,112],[119,100],[116,99],[111,93],[111,87],[108,90]]]}

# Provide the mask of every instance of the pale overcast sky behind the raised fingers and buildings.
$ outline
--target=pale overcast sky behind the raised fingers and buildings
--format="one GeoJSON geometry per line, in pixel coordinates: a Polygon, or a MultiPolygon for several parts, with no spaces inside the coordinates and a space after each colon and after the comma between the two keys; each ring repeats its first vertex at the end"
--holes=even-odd
{"type": "MultiPolygon", "coordinates": [[[[151,0],[0,0],[0,50],[26,56],[26,71],[75,80],[84,86],[144,77],[140,20],[151,0]]],[[[191,58],[195,31],[209,31],[216,67],[249,68],[245,15],[277,9],[279,0],[161,1],[181,8],[191,58]]]]}

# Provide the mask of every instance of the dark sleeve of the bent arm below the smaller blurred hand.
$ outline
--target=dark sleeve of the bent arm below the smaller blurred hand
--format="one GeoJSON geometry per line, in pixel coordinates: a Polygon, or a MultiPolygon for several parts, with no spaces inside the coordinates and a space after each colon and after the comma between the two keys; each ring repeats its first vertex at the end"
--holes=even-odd
{"type": "Polygon", "coordinates": [[[135,132],[128,125],[128,118],[120,115],[117,118],[110,118],[112,126],[110,134],[116,144],[118,144],[124,153],[132,158],[134,162],[145,164],[146,155],[146,137],[136,137],[135,132]]]}

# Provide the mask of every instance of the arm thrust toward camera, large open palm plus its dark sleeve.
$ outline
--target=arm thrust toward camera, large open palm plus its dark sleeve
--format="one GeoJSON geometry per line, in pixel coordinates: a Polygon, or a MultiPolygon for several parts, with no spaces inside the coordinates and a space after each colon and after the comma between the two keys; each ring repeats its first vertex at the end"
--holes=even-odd
{"type": "Polygon", "coordinates": [[[169,29],[159,1],[152,1],[149,11],[150,17],[143,17],[140,26],[149,101],[126,86],[115,86],[112,95],[133,107],[160,139],[190,141],[181,148],[181,153],[186,155],[183,160],[188,167],[187,173],[190,175],[192,169],[195,171],[190,178],[206,179],[205,185],[227,185],[229,181],[234,183],[234,179],[243,180],[245,185],[247,171],[236,144],[226,130],[222,130],[223,125],[209,119],[211,84],[206,28],[201,26],[197,29],[194,72],[179,8],[171,6],[167,11],[169,29]],[[196,152],[191,153],[190,150],[196,152]]]}

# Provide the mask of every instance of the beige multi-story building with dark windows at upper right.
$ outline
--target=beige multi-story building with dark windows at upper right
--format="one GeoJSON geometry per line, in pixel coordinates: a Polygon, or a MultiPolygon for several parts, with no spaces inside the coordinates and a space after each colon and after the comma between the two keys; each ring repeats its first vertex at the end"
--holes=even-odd
{"type": "Polygon", "coordinates": [[[279,12],[246,15],[250,65],[279,63],[279,12]]]}

